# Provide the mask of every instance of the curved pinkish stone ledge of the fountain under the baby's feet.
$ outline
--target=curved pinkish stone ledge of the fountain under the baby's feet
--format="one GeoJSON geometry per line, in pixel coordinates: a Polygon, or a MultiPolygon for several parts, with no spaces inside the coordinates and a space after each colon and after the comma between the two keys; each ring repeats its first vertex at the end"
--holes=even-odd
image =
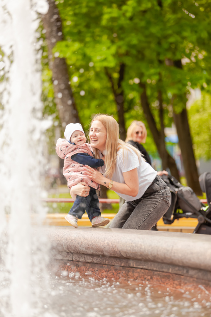
{"type": "MultiPolygon", "coordinates": [[[[211,236],[208,235],[69,227],[50,227],[46,228],[45,232],[60,254],[58,259],[68,258],[78,261],[76,255],[83,255],[84,260],[80,256],[80,261],[88,261],[87,256],[89,256],[89,262],[96,263],[96,259],[94,261],[91,258],[98,257],[97,262],[100,263],[102,261],[100,257],[103,257],[107,258],[107,265],[119,265],[112,264],[115,258],[116,261],[118,259],[118,262],[120,259],[124,259],[127,266],[130,266],[128,261],[133,260],[134,263],[141,261],[141,267],[145,267],[145,269],[153,269],[153,265],[157,263],[154,268],[157,270],[159,270],[158,267],[161,268],[161,264],[174,268],[173,271],[178,271],[178,268],[183,268],[183,271],[187,271],[187,268],[206,270],[210,275],[209,280],[211,280],[211,236]],[[70,254],[74,255],[74,259],[70,254]],[[151,264],[149,265],[149,263],[151,264]]],[[[103,264],[106,264],[105,262],[103,264]]],[[[136,267],[135,264],[132,266],[136,267]]],[[[193,272],[196,273],[196,271],[193,272]]]]}

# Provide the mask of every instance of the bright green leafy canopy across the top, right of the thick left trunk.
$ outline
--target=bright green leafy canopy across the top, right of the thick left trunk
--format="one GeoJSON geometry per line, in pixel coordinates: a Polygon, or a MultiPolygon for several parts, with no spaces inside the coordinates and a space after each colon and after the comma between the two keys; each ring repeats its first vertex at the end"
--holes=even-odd
{"type": "MultiPolygon", "coordinates": [[[[210,1],[156,0],[60,0],[64,41],[54,53],[65,57],[81,122],[87,126],[94,113],[110,113],[117,107],[107,68],[117,86],[120,64],[125,64],[125,122],[146,123],[140,107],[147,85],[151,112],[159,128],[158,91],[163,98],[164,125],[174,111],[185,106],[190,87],[205,89],[210,78],[210,1]],[[182,68],[175,67],[182,59],[182,68]]],[[[88,128],[88,126],[87,126],[88,128]]],[[[146,144],[156,151],[150,132],[146,144]]]]}

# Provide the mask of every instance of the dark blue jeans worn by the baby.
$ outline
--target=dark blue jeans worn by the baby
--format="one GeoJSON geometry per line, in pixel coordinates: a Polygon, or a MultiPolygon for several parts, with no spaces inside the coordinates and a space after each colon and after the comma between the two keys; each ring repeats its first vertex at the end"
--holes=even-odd
{"type": "Polygon", "coordinates": [[[76,196],[74,204],[68,215],[73,215],[81,219],[82,215],[87,212],[89,220],[92,222],[92,218],[100,216],[101,212],[99,209],[99,200],[96,190],[90,187],[89,195],[86,197],[76,196]]]}

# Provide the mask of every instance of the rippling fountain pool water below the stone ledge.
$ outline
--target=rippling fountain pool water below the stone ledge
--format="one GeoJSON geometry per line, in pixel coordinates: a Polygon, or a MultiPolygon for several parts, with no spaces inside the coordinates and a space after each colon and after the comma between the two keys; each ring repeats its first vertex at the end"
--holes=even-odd
{"type": "MultiPolygon", "coordinates": [[[[149,283],[133,284],[115,280],[81,277],[80,273],[62,272],[49,279],[44,291],[44,317],[199,317],[211,315],[211,296],[200,291],[161,289],[149,283]]],[[[34,316],[36,312],[34,312],[34,316]]]]}

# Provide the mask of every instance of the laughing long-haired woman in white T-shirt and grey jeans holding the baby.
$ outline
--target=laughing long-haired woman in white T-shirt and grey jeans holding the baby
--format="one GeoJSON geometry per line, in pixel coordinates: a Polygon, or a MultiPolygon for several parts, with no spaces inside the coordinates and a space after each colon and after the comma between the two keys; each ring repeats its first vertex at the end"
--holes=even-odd
{"type": "MultiPolygon", "coordinates": [[[[126,200],[110,228],[150,230],[169,208],[168,186],[139,150],[119,139],[119,126],[112,116],[96,115],[89,137],[95,158],[102,158],[105,165],[102,174],[87,165],[84,173],[126,200]]],[[[87,196],[89,187],[84,185],[73,186],[71,196],[87,196]]]]}

